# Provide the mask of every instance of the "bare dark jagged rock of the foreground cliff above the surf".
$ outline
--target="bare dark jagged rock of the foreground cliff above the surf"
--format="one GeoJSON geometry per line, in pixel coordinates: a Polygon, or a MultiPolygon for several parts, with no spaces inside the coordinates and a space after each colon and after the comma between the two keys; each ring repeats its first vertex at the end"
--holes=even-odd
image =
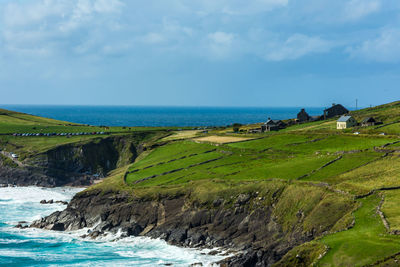
{"type": "MultiPolygon", "coordinates": [[[[138,199],[128,193],[89,190],[77,194],[66,210],[35,221],[31,227],[57,231],[94,227],[88,233],[93,238],[122,230],[127,236],[161,238],[173,245],[239,252],[221,262],[223,266],[270,266],[336,222],[317,223],[306,230],[307,215],[298,212],[294,215],[298,220],[287,228],[274,211],[282,205],[280,197],[284,198],[275,195],[276,203],[269,206],[254,194],[241,194],[233,202],[216,198],[211,205],[202,205],[190,201],[188,195],[138,199]]],[[[323,201],[312,209],[320,209],[323,201]]],[[[347,212],[343,207],[336,211],[338,218],[347,212]]]]}

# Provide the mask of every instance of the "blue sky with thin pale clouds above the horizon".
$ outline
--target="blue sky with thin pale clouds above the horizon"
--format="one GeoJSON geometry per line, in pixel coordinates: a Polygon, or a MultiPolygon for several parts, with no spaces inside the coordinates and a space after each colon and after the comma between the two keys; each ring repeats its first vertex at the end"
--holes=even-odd
{"type": "Polygon", "coordinates": [[[0,0],[0,104],[400,99],[398,0],[0,0]]]}

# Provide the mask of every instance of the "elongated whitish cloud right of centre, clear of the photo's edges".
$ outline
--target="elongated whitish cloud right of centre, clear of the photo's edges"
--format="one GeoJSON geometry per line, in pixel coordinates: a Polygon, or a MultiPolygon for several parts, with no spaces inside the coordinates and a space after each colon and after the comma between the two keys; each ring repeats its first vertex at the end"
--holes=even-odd
{"type": "Polygon", "coordinates": [[[264,55],[269,61],[294,60],[308,54],[328,52],[333,43],[320,37],[309,37],[304,34],[294,34],[286,41],[267,43],[264,55]]]}

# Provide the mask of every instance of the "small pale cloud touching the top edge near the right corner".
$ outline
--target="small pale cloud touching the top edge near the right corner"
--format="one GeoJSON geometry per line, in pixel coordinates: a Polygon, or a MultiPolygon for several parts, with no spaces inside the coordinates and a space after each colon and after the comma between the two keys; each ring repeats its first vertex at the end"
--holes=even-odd
{"type": "Polygon", "coordinates": [[[346,20],[358,20],[381,8],[380,0],[351,0],[344,7],[344,18],[346,20]]]}

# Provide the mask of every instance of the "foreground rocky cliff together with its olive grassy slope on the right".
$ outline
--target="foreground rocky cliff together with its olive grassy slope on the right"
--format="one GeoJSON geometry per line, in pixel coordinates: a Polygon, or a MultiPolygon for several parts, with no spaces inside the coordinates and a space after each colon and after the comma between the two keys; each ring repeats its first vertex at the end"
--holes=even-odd
{"type": "Polygon", "coordinates": [[[92,237],[123,231],[179,246],[237,251],[221,262],[226,266],[270,266],[296,246],[349,227],[355,207],[351,198],[311,185],[259,182],[217,194],[213,186],[191,184],[186,192],[144,195],[89,189],[32,227],[94,227],[92,237]]]}

